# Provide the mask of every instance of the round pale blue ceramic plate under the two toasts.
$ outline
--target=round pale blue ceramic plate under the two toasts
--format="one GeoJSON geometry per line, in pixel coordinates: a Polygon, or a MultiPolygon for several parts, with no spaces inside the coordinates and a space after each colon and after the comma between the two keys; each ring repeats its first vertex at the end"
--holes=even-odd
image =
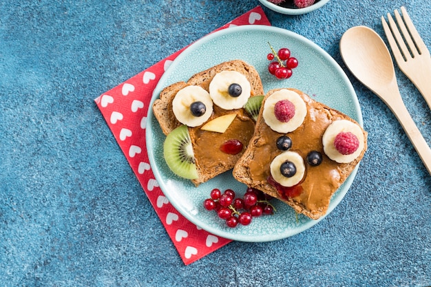
{"type": "MultiPolygon", "coordinates": [[[[260,25],[227,28],[190,45],[171,63],[160,79],[154,90],[151,106],[164,87],[178,81],[187,81],[197,72],[233,59],[241,59],[256,68],[262,78],[265,92],[280,87],[301,89],[315,100],[355,118],[362,125],[361,109],[350,81],[341,67],[322,48],[293,32],[260,25]],[[288,47],[292,56],[299,61],[299,66],[293,70],[293,76],[286,81],[277,80],[267,70],[269,61],[266,54],[270,52],[268,42],[275,50],[288,47]]],[[[246,189],[244,184],[234,180],[231,171],[200,184],[199,187],[194,187],[189,180],[174,175],[163,159],[165,135],[162,134],[151,109],[147,120],[146,140],[149,161],[163,193],[188,220],[214,235],[243,242],[280,240],[305,231],[323,219],[321,217],[319,220],[311,220],[304,215],[296,216],[290,206],[273,200],[277,209],[275,215],[254,218],[249,226],[229,228],[223,220],[218,219],[214,211],[203,208],[204,199],[209,198],[211,189],[215,187],[220,190],[231,188],[238,195],[242,195],[246,189]]],[[[328,213],[344,197],[356,173],[357,169],[333,195],[328,213]]]]}

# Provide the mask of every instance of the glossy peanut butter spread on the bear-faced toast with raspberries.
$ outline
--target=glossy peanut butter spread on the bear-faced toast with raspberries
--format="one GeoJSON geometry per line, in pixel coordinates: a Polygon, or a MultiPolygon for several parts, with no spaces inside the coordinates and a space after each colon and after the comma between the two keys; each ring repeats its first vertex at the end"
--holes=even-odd
{"type": "MultiPolygon", "coordinates": [[[[339,164],[330,160],[323,151],[322,136],[326,127],[333,122],[342,118],[342,115],[331,112],[330,109],[311,100],[306,94],[296,91],[304,99],[307,106],[307,114],[301,126],[295,131],[286,134],[292,140],[291,151],[299,153],[306,164],[306,173],[302,182],[298,185],[302,187],[302,193],[295,196],[293,200],[301,204],[305,209],[310,211],[326,210],[333,193],[341,185],[344,177],[341,171],[344,164],[339,164]],[[319,151],[322,153],[322,164],[313,167],[307,163],[306,156],[310,151],[319,151]]],[[[261,120],[264,120],[261,118],[261,120]]],[[[271,176],[270,164],[275,156],[282,153],[276,147],[277,138],[283,134],[273,131],[266,125],[258,125],[255,138],[255,152],[253,160],[249,162],[249,174],[251,179],[264,184],[271,176]]],[[[285,197],[283,194],[281,197],[285,197]]]]}

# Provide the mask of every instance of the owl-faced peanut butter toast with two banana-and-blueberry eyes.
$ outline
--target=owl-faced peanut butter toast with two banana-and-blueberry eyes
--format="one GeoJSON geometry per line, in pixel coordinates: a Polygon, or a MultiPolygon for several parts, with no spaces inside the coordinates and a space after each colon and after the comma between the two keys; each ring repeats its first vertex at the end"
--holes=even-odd
{"type": "MultiPolygon", "coordinates": [[[[154,116],[167,138],[178,127],[187,126],[193,149],[193,164],[196,165],[196,173],[189,179],[195,186],[233,169],[249,144],[255,121],[244,111],[245,99],[241,97],[245,94],[248,97],[263,95],[262,81],[253,66],[244,61],[234,60],[199,72],[191,76],[187,82],[165,87],[160,92],[160,98],[154,102],[152,107],[154,116]],[[234,87],[231,87],[232,85],[234,87]],[[227,91],[229,87],[236,88],[233,96],[229,96],[227,91]],[[192,94],[199,96],[191,98],[192,94]],[[227,116],[229,114],[234,116],[227,116]],[[226,117],[220,119],[217,125],[218,128],[220,125],[226,125],[225,130],[220,131],[217,127],[214,128],[214,125],[207,125],[211,120],[222,116],[226,117]],[[240,151],[236,147],[236,151],[231,152],[229,143],[235,146],[239,145],[238,142],[242,145],[240,151]]],[[[167,157],[169,155],[165,155],[165,159],[167,157]]],[[[178,173],[176,173],[178,176],[182,176],[178,173]]]]}

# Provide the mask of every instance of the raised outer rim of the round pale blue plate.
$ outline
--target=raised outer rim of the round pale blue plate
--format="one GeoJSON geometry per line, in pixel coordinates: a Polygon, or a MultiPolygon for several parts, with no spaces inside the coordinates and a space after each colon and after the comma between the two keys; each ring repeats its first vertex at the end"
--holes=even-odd
{"type": "MultiPolygon", "coordinates": [[[[154,101],[158,98],[161,90],[164,87],[166,87],[167,85],[172,84],[172,83],[164,83],[165,78],[167,78],[169,76],[170,70],[174,70],[175,67],[177,65],[179,65],[179,63],[182,61],[182,59],[184,59],[190,52],[193,52],[193,50],[195,50],[196,47],[203,45],[204,43],[207,43],[211,40],[214,40],[214,39],[216,39],[220,36],[224,36],[226,34],[234,34],[234,33],[249,32],[249,31],[271,32],[274,34],[282,34],[283,36],[293,37],[295,39],[298,39],[299,41],[302,41],[303,43],[306,43],[306,45],[309,45],[313,50],[317,50],[319,52],[319,55],[323,56],[324,59],[326,61],[328,61],[330,63],[330,65],[335,68],[335,70],[337,70],[337,73],[339,74],[339,76],[341,76],[343,82],[346,84],[346,88],[348,89],[348,91],[350,92],[350,95],[352,96],[353,103],[355,106],[355,111],[357,111],[357,115],[355,115],[355,116],[357,116],[356,120],[359,123],[359,125],[361,127],[363,127],[364,123],[363,123],[363,118],[362,118],[361,107],[359,105],[359,100],[357,98],[357,95],[356,95],[355,89],[353,88],[352,83],[350,83],[348,76],[346,75],[344,70],[342,70],[342,68],[337,63],[337,61],[335,61],[335,59],[333,59],[333,57],[330,56],[330,54],[328,54],[325,50],[323,50],[322,47],[319,47],[316,43],[314,43],[313,41],[307,39],[306,37],[304,37],[300,34],[297,34],[295,32],[292,32],[290,30],[286,30],[283,28],[273,27],[273,26],[269,26],[269,25],[241,25],[241,26],[233,26],[233,27],[225,28],[223,30],[218,30],[218,31],[212,32],[211,34],[207,34],[206,36],[203,36],[198,41],[195,41],[195,42],[191,43],[191,45],[187,46],[176,57],[176,59],[174,59],[174,61],[172,61],[172,63],[167,68],[167,70],[160,77],[160,80],[158,81],[158,83],[154,89],[154,92],[151,96],[151,100],[149,103],[149,110],[147,113],[147,127],[145,128],[145,130],[146,130],[145,141],[147,142],[147,146],[148,146],[148,142],[149,142],[149,138],[150,138],[150,133],[148,132],[148,130],[149,130],[149,127],[151,127],[151,125],[152,125],[151,118],[154,118],[154,114],[153,114],[151,107],[154,105],[154,101]]],[[[187,81],[187,79],[185,79],[185,81],[187,81]]],[[[327,215],[329,215],[333,211],[333,209],[335,209],[336,206],[338,206],[339,202],[341,202],[341,200],[343,200],[344,196],[348,192],[348,189],[350,189],[350,186],[353,183],[353,180],[356,177],[357,170],[359,169],[359,165],[360,165],[360,162],[359,162],[359,164],[357,164],[357,167],[355,167],[353,172],[350,173],[350,176],[348,176],[346,181],[341,185],[341,187],[344,187],[344,190],[338,194],[337,198],[331,198],[330,206],[328,207],[328,211],[326,211],[325,215],[323,215],[322,217],[319,217],[319,219],[310,220],[308,222],[305,222],[304,224],[302,224],[298,228],[295,228],[294,231],[288,232],[288,234],[280,233],[280,235],[277,235],[277,236],[266,235],[264,237],[250,238],[250,236],[247,236],[247,235],[241,236],[238,234],[232,234],[232,233],[220,230],[219,228],[215,228],[215,227],[209,226],[207,224],[204,224],[202,222],[199,222],[199,220],[195,220],[193,218],[193,215],[189,214],[189,212],[182,209],[182,206],[176,204],[176,200],[175,199],[173,200],[173,198],[171,198],[171,195],[169,193],[165,194],[165,191],[163,191],[163,189],[162,189],[162,186],[163,186],[163,182],[161,180],[162,177],[160,176],[158,169],[153,168],[155,165],[154,156],[152,156],[153,153],[150,153],[149,149],[147,149],[147,154],[148,154],[148,158],[149,158],[149,163],[151,165],[151,170],[153,171],[156,180],[158,180],[158,182],[160,184],[160,190],[167,197],[169,202],[171,202],[171,204],[174,206],[176,211],[178,211],[181,215],[183,215],[191,223],[195,224],[196,226],[199,226],[200,228],[204,229],[205,231],[207,231],[209,233],[212,233],[213,235],[218,235],[220,237],[224,237],[224,238],[229,239],[229,240],[235,240],[235,241],[240,241],[240,242],[270,242],[270,241],[275,241],[275,240],[282,240],[284,238],[291,237],[293,235],[297,235],[298,233],[302,233],[302,232],[306,231],[308,228],[311,228],[312,226],[314,226],[318,222],[322,221],[327,215]]]]}

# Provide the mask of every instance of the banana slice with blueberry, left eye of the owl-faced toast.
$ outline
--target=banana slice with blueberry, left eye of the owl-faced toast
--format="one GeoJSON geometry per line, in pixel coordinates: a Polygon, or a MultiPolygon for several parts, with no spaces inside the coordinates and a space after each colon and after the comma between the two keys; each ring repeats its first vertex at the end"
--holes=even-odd
{"type": "Polygon", "coordinates": [[[213,101],[202,87],[190,85],[176,94],[172,100],[172,110],[183,125],[198,127],[213,114],[213,101]]]}

